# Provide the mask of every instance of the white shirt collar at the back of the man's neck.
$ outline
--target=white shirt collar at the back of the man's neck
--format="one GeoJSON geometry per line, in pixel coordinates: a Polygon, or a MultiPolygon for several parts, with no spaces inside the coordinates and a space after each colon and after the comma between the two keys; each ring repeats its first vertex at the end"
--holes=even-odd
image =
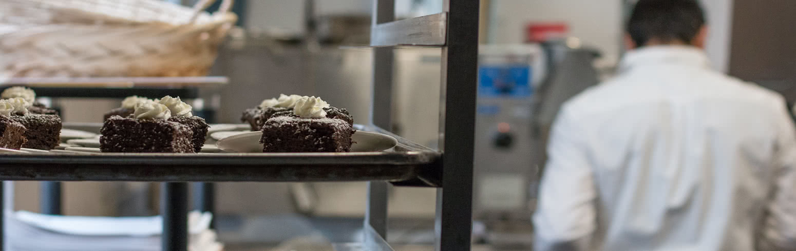
{"type": "Polygon", "coordinates": [[[619,65],[619,71],[629,71],[642,65],[684,65],[710,68],[710,60],[704,50],[693,46],[650,46],[627,52],[619,65]]]}

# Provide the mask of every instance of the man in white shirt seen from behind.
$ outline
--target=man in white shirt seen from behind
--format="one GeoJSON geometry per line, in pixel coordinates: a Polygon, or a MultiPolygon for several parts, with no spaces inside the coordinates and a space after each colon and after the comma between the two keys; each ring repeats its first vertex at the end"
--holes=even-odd
{"type": "Polygon", "coordinates": [[[618,77],[556,118],[536,250],[796,249],[784,99],[710,68],[693,0],[640,0],[627,33],[618,77]]]}

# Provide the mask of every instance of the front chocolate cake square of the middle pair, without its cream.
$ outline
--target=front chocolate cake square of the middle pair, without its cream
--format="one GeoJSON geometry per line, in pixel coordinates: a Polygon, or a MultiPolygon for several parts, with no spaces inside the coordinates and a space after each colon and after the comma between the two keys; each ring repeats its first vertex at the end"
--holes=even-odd
{"type": "Polygon", "coordinates": [[[165,119],[112,116],[100,133],[103,153],[193,153],[190,127],[165,119]]]}

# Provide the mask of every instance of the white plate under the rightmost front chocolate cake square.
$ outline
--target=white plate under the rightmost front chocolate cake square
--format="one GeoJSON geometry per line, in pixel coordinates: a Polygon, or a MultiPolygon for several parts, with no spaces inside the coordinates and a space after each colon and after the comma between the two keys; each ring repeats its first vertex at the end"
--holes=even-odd
{"type": "MultiPolygon", "coordinates": [[[[263,132],[242,133],[224,137],[216,145],[227,153],[263,153],[263,144],[259,143],[262,136],[263,132]]],[[[398,144],[394,137],[365,131],[353,133],[351,139],[357,142],[351,145],[351,152],[381,152],[398,144]]]]}

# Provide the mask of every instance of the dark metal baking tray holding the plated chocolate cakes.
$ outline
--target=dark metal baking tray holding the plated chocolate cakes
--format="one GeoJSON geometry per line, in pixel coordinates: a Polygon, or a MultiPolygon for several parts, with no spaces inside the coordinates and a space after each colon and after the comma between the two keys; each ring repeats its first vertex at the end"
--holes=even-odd
{"type": "MultiPolygon", "coordinates": [[[[100,124],[95,124],[100,125],[100,124]]],[[[69,126],[70,129],[96,127],[69,126]]],[[[439,187],[441,153],[376,127],[398,145],[373,153],[96,153],[0,156],[0,180],[60,181],[390,181],[439,187]]]]}

